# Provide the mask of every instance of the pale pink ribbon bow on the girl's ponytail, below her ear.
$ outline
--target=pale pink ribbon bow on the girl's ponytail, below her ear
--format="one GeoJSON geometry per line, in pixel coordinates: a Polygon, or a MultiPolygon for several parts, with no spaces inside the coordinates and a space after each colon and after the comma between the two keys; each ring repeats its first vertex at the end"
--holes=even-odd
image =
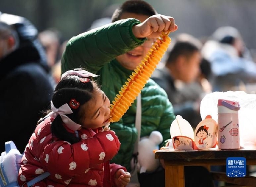
{"type": "Polygon", "coordinates": [[[54,107],[53,101],[51,100],[51,109],[52,109],[53,112],[49,113],[49,116],[51,116],[52,118],[55,119],[57,117],[57,115],[60,115],[63,123],[65,123],[65,125],[69,129],[71,129],[73,131],[76,131],[81,127],[81,125],[75,123],[69,117],[67,117],[65,115],[65,114],[72,114],[73,113],[71,108],[68,106],[67,103],[65,103],[64,105],[62,105],[59,108],[56,108],[56,107],[54,107]]]}

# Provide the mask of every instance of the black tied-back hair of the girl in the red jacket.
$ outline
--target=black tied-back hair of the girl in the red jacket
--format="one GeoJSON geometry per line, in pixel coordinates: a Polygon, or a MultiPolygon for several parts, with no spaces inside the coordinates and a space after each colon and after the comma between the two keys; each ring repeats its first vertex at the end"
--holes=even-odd
{"type": "MultiPolygon", "coordinates": [[[[68,75],[67,77],[60,80],[54,90],[52,102],[54,107],[59,108],[64,104],[69,104],[72,99],[75,99],[80,103],[79,107],[74,109],[72,107],[72,114],[66,114],[68,118],[73,120],[75,123],[81,124],[85,116],[85,106],[94,97],[94,91],[99,89],[97,84],[90,80],[89,82],[83,82],[80,80],[81,77],[77,75],[68,75]]],[[[65,140],[72,143],[78,142],[74,134],[69,133],[63,126],[61,116],[58,115],[51,124],[51,130],[54,136],[61,140],[65,140]]]]}

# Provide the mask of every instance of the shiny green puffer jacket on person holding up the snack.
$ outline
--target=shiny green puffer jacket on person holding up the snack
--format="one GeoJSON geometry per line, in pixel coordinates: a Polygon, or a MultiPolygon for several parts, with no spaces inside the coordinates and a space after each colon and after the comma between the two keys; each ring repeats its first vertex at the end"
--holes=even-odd
{"type": "MultiPolygon", "coordinates": [[[[81,33],[70,39],[62,56],[62,73],[77,67],[85,67],[88,71],[100,75],[101,89],[114,100],[122,85],[133,71],[122,67],[115,57],[141,45],[145,39],[136,39],[132,26],[140,22],[135,19],[119,20],[94,30],[81,33]]],[[[170,139],[170,125],[175,119],[173,107],[165,91],[153,80],[149,79],[141,90],[141,137],[152,131],[160,131],[163,142],[170,139]]],[[[111,123],[121,142],[118,154],[111,162],[125,166],[130,171],[130,160],[137,138],[135,128],[136,100],[129,107],[120,121],[111,123]]]]}

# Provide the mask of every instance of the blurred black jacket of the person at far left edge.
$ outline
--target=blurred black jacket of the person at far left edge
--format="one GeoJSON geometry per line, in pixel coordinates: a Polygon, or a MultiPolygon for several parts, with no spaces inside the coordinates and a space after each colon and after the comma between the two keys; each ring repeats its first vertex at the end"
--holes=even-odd
{"type": "Polygon", "coordinates": [[[20,47],[0,60],[0,153],[9,140],[23,153],[54,90],[45,53],[29,24],[26,19],[15,23],[20,47]]]}

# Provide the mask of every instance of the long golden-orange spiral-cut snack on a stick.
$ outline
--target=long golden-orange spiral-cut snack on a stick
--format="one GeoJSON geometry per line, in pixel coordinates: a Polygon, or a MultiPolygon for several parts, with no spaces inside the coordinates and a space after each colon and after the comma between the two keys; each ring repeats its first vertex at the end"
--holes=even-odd
{"type": "Polygon", "coordinates": [[[136,97],[141,93],[151,74],[155,71],[156,65],[162,59],[171,39],[168,34],[162,33],[153,46],[150,48],[141,63],[136,67],[130,79],[121,87],[116,95],[113,104],[110,105],[109,122],[116,122],[121,119],[136,97]]]}

